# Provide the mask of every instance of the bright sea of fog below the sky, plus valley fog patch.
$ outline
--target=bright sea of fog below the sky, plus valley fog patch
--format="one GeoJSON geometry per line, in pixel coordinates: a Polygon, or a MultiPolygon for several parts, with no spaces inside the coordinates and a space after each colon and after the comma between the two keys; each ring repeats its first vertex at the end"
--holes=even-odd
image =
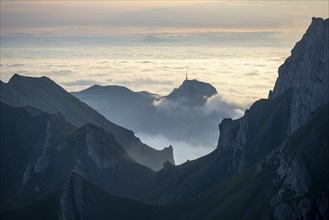
{"type": "MultiPolygon", "coordinates": [[[[145,37],[2,35],[1,80],[18,73],[48,76],[68,91],[99,84],[166,95],[183,82],[188,67],[190,79],[212,84],[223,99],[245,110],[267,97],[297,40],[275,33],[163,34],[156,42],[145,37]]],[[[172,143],[161,135],[140,137],[158,149],[172,144],[178,164],[216,147],[172,143]]]]}

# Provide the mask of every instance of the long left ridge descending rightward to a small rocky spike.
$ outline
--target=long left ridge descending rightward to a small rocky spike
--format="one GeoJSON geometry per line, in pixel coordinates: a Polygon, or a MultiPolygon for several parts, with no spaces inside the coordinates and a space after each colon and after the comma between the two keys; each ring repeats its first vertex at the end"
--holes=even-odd
{"type": "Polygon", "coordinates": [[[167,160],[174,163],[172,148],[158,151],[143,144],[132,131],[106,120],[49,78],[15,74],[8,83],[1,82],[1,99],[13,106],[29,105],[52,114],[60,112],[68,122],[77,127],[86,123],[103,127],[114,135],[130,156],[154,170],[161,169],[167,160]]]}

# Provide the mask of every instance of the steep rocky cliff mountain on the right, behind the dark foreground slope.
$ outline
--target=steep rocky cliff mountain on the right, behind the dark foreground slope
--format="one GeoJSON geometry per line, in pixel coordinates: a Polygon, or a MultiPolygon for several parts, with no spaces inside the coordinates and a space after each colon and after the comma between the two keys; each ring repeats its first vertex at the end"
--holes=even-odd
{"type": "Polygon", "coordinates": [[[241,171],[263,158],[329,101],[328,29],[328,19],[313,18],[279,68],[269,99],[256,102],[241,119],[225,119],[219,125],[218,152],[231,151],[233,170],[241,171]],[[272,141],[265,144],[268,149],[264,150],[262,140],[267,137],[272,141]],[[255,157],[254,153],[262,148],[263,153],[255,157]]]}

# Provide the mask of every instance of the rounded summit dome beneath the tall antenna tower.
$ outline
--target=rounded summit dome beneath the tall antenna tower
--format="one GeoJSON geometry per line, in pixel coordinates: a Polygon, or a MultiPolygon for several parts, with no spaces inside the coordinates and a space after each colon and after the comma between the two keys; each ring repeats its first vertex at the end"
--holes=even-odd
{"type": "Polygon", "coordinates": [[[183,102],[189,106],[201,106],[208,97],[215,94],[217,94],[215,87],[193,79],[184,80],[183,84],[174,89],[166,98],[175,102],[183,102]]]}

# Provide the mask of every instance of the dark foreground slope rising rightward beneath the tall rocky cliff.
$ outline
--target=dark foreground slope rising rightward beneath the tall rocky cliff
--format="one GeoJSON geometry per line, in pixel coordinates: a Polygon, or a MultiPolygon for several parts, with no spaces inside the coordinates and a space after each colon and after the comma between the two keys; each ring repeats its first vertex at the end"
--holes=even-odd
{"type": "Polygon", "coordinates": [[[329,103],[259,163],[164,213],[168,219],[326,219],[328,131],[329,103]]]}

